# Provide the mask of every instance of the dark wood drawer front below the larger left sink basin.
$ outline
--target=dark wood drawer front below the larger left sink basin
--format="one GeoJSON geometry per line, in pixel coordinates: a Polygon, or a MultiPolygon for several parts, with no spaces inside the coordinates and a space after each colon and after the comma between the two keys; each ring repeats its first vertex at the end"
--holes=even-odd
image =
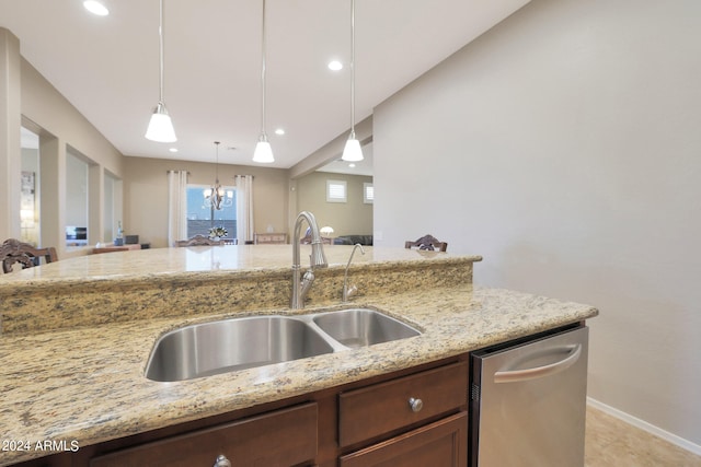
{"type": "Polygon", "coordinates": [[[304,404],[95,457],[91,467],[292,466],[317,456],[317,404],[304,404]]]}

